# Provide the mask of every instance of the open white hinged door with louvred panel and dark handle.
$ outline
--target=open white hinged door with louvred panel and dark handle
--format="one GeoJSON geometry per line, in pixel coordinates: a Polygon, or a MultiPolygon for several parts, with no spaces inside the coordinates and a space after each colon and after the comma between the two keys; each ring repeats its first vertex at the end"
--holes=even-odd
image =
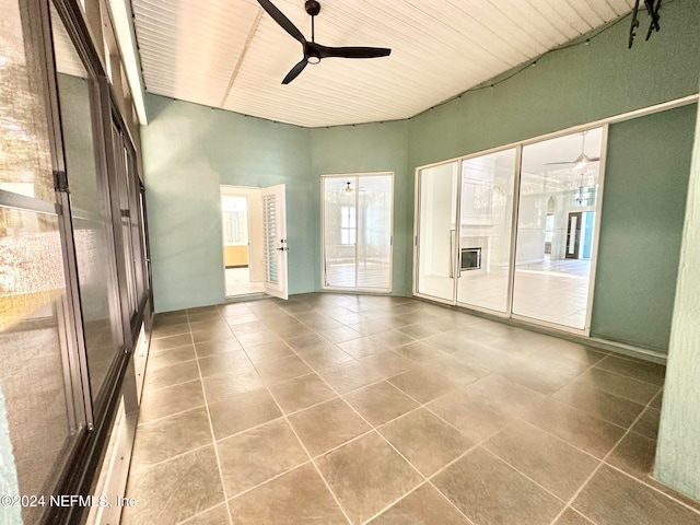
{"type": "Polygon", "coordinates": [[[287,211],[284,185],[260,190],[262,200],[262,235],[265,257],[265,292],[280,299],[289,298],[287,271],[287,211]]]}

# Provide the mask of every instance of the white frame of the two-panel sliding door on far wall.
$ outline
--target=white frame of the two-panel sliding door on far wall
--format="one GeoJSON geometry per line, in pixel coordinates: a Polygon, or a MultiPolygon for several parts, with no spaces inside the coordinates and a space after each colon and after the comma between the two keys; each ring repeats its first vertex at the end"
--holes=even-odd
{"type": "Polygon", "coordinates": [[[320,271],[320,285],[323,290],[342,292],[342,291],[352,291],[352,292],[366,292],[366,293],[392,293],[394,290],[394,182],[395,176],[394,172],[368,172],[368,173],[337,173],[337,174],[326,174],[320,176],[320,258],[323,261],[323,267],[320,271]],[[361,288],[358,285],[358,202],[360,196],[360,184],[359,180],[361,177],[376,177],[376,176],[388,176],[392,183],[390,188],[390,203],[389,203],[389,285],[386,288],[361,288]],[[327,281],[327,262],[326,262],[326,198],[325,198],[325,180],[327,178],[352,178],[355,182],[355,191],[354,191],[354,223],[355,223],[355,252],[354,252],[354,287],[332,287],[326,284],[327,281]]]}

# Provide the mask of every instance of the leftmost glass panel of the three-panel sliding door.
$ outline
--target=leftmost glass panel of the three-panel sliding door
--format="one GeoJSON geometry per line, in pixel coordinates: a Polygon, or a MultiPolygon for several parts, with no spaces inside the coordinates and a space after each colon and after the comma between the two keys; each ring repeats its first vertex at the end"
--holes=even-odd
{"type": "Polygon", "coordinates": [[[454,302],[457,162],[421,170],[418,191],[418,293],[454,302]]]}

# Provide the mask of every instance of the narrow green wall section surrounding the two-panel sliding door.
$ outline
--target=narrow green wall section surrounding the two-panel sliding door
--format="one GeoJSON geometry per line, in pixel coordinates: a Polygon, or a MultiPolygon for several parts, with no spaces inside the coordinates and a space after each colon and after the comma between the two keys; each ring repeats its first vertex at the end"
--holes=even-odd
{"type": "Polygon", "coordinates": [[[408,120],[312,130],[312,178],[315,190],[313,236],[320,289],[320,176],[341,173],[394,172],[393,293],[411,294],[413,177],[407,171],[408,120]]]}

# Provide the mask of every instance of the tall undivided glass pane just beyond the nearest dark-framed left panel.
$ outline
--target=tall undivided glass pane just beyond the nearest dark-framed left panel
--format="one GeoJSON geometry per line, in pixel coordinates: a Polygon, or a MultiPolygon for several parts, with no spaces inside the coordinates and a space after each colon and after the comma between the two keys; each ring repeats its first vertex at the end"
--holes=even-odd
{"type": "Polygon", "coordinates": [[[95,161],[92,81],[55,11],[51,24],[90,389],[97,400],[122,347],[109,194],[95,161]]]}

